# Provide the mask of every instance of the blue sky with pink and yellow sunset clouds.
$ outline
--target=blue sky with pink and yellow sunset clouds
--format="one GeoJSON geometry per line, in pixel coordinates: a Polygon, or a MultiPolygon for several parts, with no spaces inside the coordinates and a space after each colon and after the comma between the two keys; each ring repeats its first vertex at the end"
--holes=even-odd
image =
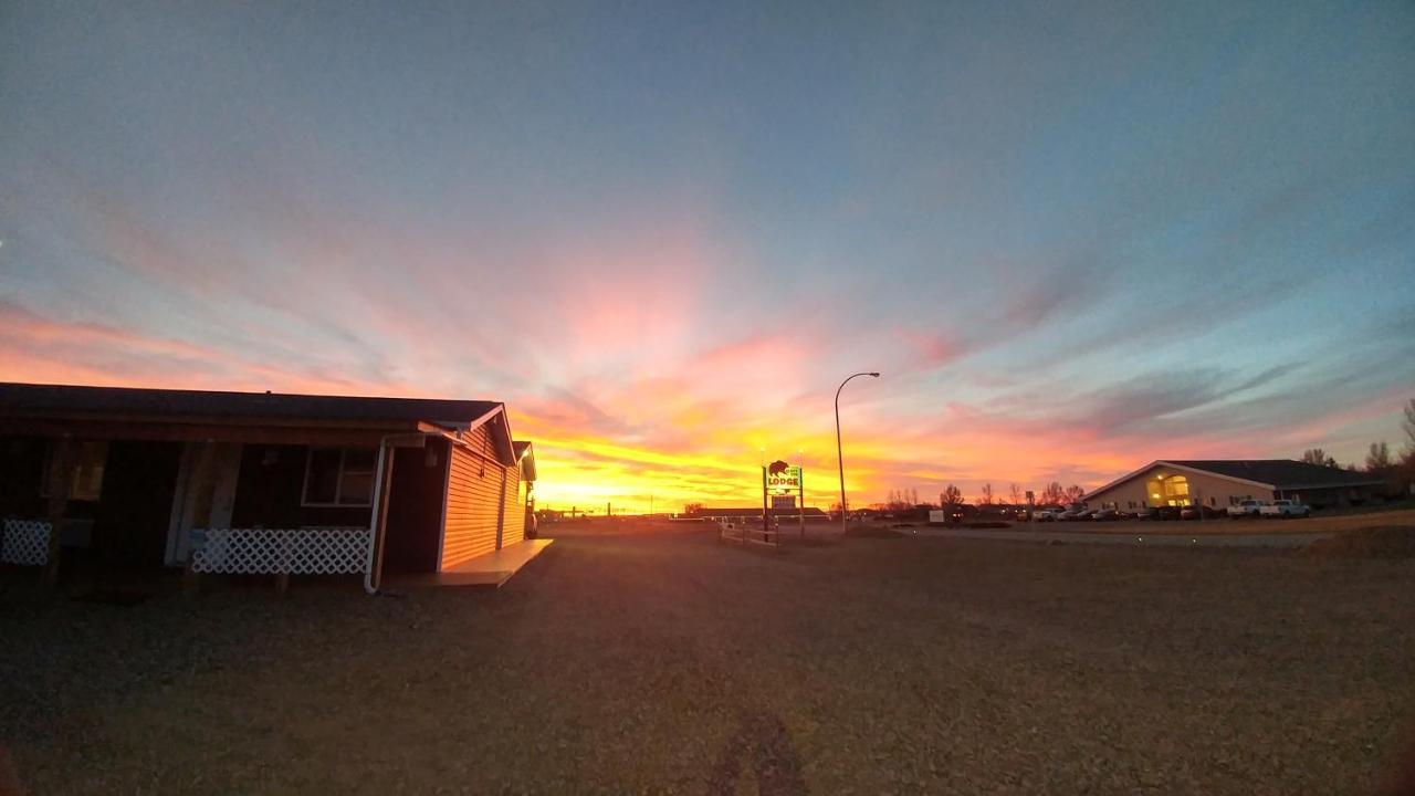
{"type": "Polygon", "coordinates": [[[505,401],[542,507],[1360,462],[1415,4],[0,4],[0,380],[505,401]]]}

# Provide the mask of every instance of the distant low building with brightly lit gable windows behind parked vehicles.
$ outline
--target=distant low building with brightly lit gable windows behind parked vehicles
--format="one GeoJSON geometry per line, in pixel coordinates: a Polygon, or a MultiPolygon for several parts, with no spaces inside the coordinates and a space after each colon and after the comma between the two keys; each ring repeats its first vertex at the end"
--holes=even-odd
{"type": "Polygon", "coordinates": [[[1385,482],[1368,473],[1323,467],[1290,459],[1218,459],[1150,462],[1087,494],[1101,508],[1150,508],[1241,500],[1300,500],[1316,508],[1363,503],[1385,482]]]}

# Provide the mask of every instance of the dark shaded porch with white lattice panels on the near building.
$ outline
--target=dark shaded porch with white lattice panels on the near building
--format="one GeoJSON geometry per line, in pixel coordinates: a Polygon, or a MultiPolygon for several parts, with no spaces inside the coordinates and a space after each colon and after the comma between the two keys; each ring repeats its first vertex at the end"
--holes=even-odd
{"type": "Polygon", "coordinates": [[[221,574],[364,575],[374,589],[385,557],[436,568],[441,433],[6,418],[0,564],[50,585],[185,571],[188,588],[221,574]]]}

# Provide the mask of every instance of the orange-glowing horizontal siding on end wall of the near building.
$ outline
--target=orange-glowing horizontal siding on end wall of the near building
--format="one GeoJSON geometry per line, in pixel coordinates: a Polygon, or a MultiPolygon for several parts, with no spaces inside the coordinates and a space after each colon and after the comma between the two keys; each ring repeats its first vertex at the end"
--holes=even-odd
{"type": "MultiPolygon", "coordinates": [[[[466,436],[471,450],[451,446],[447,477],[447,520],[443,530],[441,569],[497,550],[497,510],[501,504],[501,476],[487,426],[466,436]],[[485,452],[485,459],[480,452],[485,452]]],[[[507,479],[509,480],[509,479],[507,479]]]]}

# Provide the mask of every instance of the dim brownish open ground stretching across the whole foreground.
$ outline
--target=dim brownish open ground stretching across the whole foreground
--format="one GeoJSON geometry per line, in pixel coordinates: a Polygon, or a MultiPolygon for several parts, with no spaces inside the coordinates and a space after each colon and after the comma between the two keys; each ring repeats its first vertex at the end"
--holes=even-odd
{"type": "Polygon", "coordinates": [[[30,793],[1364,793],[1415,561],[549,525],[499,592],[0,598],[30,793]],[[638,531],[638,533],[634,533],[638,531]]]}

